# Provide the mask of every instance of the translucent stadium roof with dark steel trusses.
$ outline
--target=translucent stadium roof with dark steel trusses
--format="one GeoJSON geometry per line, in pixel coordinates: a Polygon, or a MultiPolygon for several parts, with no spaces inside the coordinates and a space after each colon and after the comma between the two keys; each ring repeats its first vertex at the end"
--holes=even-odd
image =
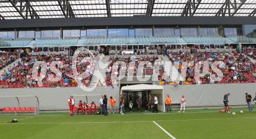
{"type": "Polygon", "coordinates": [[[256,16],[256,0],[0,0],[0,19],[256,16]]]}

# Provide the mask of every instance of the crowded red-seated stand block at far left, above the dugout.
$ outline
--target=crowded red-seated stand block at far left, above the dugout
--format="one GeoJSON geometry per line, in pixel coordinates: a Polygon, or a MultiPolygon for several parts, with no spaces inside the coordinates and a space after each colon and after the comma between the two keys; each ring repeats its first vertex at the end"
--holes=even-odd
{"type": "MultiPolygon", "coordinates": [[[[80,63],[86,58],[87,54],[82,54],[77,57],[77,72],[86,72],[88,76],[82,80],[84,85],[88,86],[94,70],[88,62],[80,63]]],[[[72,57],[67,55],[27,55],[23,56],[20,62],[17,62],[12,67],[5,70],[1,76],[1,88],[24,88],[24,87],[39,87],[37,81],[32,78],[32,68],[35,62],[47,62],[47,75],[42,80],[42,87],[77,87],[76,81],[70,79],[67,75],[72,75],[72,57]],[[50,82],[47,80],[48,74],[52,74],[49,66],[52,61],[60,60],[63,63],[63,68],[60,69],[62,79],[58,82],[50,82]]],[[[55,75],[56,77],[56,75],[55,75]]]]}

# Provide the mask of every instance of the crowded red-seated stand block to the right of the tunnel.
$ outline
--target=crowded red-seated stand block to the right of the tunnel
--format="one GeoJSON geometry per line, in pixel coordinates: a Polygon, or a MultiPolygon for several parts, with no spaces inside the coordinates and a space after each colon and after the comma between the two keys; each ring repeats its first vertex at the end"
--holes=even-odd
{"type": "MultiPolygon", "coordinates": [[[[200,77],[200,84],[214,83],[209,78],[210,74],[216,74],[211,69],[211,64],[215,61],[223,61],[224,64],[219,65],[224,77],[223,80],[217,82],[221,83],[254,83],[256,82],[256,64],[252,63],[247,56],[238,54],[236,51],[232,52],[197,52],[190,54],[189,52],[170,52],[168,54],[172,62],[178,62],[177,69],[187,68],[186,80],[182,84],[195,84],[194,79],[194,65],[202,60],[207,60],[209,63],[209,71],[204,77],[200,77]],[[193,65],[182,67],[182,62],[194,62],[193,65]]],[[[163,80],[163,70],[159,70],[159,82],[161,84],[176,84],[173,81],[163,80]]],[[[216,83],[216,82],[215,82],[216,83]]]]}

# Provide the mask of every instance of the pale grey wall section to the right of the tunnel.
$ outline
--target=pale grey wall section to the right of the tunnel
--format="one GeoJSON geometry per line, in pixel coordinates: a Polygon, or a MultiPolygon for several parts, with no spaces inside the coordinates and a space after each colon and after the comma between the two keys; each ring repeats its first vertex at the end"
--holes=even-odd
{"type": "Polygon", "coordinates": [[[173,103],[179,103],[184,94],[187,106],[219,106],[223,105],[223,97],[229,92],[230,105],[246,105],[245,93],[253,97],[256,91],[256,84],[204,84],[204,85],[164,85],[165,97],[169,94],[173,103]]]}

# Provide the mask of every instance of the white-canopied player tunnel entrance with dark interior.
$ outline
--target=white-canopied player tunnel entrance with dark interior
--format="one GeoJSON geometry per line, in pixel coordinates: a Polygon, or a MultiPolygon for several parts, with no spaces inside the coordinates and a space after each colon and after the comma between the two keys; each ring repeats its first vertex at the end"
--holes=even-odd
{"type": "MultiPolygon", "coordinates": [[[[140,97],[141,108],[145,108],[149,95],[155,94],[158,98],[158,110],[165,112],[164,94],[162,85],[136,84],[123,86],[121,92],[126,96],[126,108],[129,108],[129,101],[137,108],[136,100],[140,97]]],[[[153,96],[152,96],[153,97],[153,96]]],[[[144,109],[143,109],[144,110],[144,109]]]]}

